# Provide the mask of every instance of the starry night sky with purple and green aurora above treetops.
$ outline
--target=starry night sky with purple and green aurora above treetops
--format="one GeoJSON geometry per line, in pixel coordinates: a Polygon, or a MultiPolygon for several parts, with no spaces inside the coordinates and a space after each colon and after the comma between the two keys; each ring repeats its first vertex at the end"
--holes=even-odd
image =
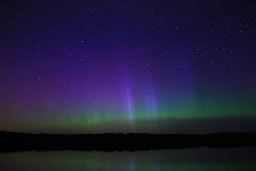
{"type": "Polygon", "coordinates": [[[0,130],[256,130],[253,1],[1,1],[0,130]]]}

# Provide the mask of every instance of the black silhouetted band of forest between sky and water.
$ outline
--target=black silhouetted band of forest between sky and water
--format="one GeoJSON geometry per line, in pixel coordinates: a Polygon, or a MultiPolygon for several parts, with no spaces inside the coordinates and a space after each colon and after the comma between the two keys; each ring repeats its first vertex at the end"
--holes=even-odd
{"type": "Polygon", "coordinates": [[[213,134],[30,134],[0,131],[0,152],[29,150],[139,151],[256,145],[256,133],[213,134]]]}

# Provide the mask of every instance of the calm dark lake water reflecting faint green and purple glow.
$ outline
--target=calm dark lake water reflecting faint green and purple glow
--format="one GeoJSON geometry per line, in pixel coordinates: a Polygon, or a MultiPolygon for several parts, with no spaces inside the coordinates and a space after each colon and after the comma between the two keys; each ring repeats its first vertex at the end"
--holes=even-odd
{"type": "Polygon", "coordinates": [[[138,152],[31,151],[1,153],[0,170],[256,171],[256,146],[138,152]]]}

